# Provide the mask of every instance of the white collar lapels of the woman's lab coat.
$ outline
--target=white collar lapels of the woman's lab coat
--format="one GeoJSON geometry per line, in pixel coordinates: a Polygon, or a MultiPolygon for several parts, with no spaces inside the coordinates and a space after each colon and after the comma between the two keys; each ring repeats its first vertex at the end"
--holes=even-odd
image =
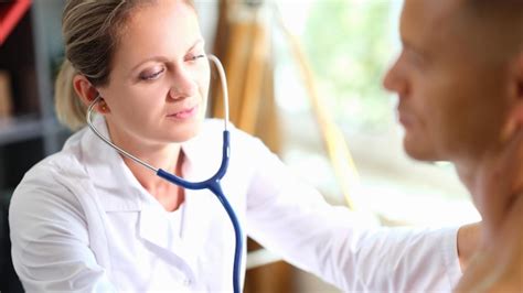
{"type": "MultiPolygon", "coordinates": [[[[95,116],[94,126],[110,141],[104,117],[95,116]]],[[[102,196],[107,210],[140,209],[135,202],[154,199],[141,186],[115,149],[89,129],[83,131],[87,133],[82,135],[82,156],[95,187],[108,192],[102,196]]],[[[199,135],[181,144],[185,155],[182,166],[185,180],[205,181],[217,172],[222,163],[222,133],[223,129],[217,120],[204,121],[199,135]]]]}

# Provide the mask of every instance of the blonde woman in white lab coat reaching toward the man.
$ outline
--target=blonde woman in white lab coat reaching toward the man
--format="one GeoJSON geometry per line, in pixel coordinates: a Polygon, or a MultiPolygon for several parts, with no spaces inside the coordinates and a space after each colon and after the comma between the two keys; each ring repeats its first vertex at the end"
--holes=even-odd
{"type": "MultiPolygon", "coordinates": [[[[70,0],[63,34],[63,122],[85,126],[100,97],[94,124],[113,143],[191,181],[214,174],[222,122],[204,119],[210,64],[191,1],[70,0]]],[[[361,227],[259,140],[237,129],[231,138],[224,193],[246,232],[288,262],[344,291],[450,291],[460,278],[468,228],[361,227]]],[[[30,292],[233,287],[234,232],[214,195],[158,177],[88,128],[25,174],[9,220],[30,292]]]]}

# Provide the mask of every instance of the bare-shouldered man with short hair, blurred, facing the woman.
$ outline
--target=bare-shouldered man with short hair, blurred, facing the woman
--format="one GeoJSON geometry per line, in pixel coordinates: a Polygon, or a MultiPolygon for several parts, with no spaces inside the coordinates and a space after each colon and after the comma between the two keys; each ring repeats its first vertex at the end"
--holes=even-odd
{"type": "Polygon", "coordinates": [[[404,148],[450,161],[482,221],[456,291],[523,291],[523,1],[405,0],[398,94],[404,148]]]}

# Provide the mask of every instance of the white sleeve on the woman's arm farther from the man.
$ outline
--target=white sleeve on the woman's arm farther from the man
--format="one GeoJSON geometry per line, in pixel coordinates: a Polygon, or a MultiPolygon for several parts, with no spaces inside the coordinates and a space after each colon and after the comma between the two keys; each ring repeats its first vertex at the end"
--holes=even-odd
{"type": "Polygon", "coordinates": [[[24,290],[115,292],[89,249],[79,203],[53,173],[22,182],[10,204],[12,260],[24,290]]]}

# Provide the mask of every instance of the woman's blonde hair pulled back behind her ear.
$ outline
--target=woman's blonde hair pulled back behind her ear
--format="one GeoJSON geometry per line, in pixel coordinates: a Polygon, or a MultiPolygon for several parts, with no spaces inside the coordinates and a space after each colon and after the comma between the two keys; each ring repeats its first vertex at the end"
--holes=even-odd
{"type": "MultiPolygon", "coordinates": [[[[109,83],[111,61],[119,36],[138,7],[156,0],[68,0],[62,15],[65,59],[55,82],[55,110],[71,130],[86,124],[87,107],[73,87],[84,75],[93,86],[109,83]]],[[[194,9],[193,1],[184,1],[194,9]]],[[[195,9],[194,9],[195,10],[195,9]]]]}

